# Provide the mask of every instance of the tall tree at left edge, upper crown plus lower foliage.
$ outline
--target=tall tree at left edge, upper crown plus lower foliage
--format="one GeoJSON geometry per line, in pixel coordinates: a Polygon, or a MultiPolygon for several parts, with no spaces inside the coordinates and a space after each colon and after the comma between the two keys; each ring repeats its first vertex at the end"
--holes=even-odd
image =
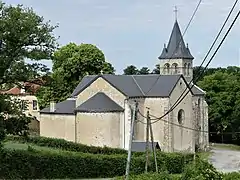
{"type": "MultiPolygon", "coordinates": [[[[48,69],[36,60],[51,58],[57,47],[56,26],[22,5],[0,2],[0,11],[0,86],[45,74],[48,69]],[[33,63],[26,63],[26,58],[33,63]]],[[[25,134],[30,117],[20,111],[16,100],[3,94],[0,99],[0,140],[5,134],[25,134]]]]}

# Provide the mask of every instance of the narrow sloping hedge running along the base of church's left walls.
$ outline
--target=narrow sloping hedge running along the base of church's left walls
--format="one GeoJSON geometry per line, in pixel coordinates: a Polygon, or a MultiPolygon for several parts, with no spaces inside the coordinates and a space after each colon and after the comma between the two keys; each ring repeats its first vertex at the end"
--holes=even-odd
{"type": "Polygon", "coordinates": [[[31,143],[38,146],[58,148],[67,151],[83,152],[91,154],[127,154],[124,149],[95,147],[78,144],[64,139],[46,138],[46,137],[23,137],[23,136],[8,136],[7,141],[17,141],[21,143],[31,143]]]}

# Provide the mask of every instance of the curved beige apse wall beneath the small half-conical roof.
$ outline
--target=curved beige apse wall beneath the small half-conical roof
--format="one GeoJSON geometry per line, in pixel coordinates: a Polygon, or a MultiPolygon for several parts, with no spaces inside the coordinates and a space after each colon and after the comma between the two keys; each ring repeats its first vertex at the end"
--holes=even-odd
{"type": "Polygon", "coordinates": [[[123,113],[78,113],[77,142],[90,146],[123,148],[123,113]]]}

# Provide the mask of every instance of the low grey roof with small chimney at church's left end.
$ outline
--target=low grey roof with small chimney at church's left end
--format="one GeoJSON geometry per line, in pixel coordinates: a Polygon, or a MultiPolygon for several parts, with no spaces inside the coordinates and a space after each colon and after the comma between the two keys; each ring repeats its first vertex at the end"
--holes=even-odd
{"type": "Polygon", "coordinates": [[[40,113],[44,114],[74,114],[74,109],[76,106],[76,100],[67,99],[66,101],[60,102],[56,104],[56,110],[54,112],[50,112],[50,107],[44,108],[40,111],[40,113]]]}

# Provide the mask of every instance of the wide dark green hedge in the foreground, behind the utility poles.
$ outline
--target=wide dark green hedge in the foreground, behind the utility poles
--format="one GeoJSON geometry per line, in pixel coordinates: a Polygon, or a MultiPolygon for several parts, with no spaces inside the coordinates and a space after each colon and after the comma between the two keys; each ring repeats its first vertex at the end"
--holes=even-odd
{"type": "MultiPolygon", "coordinates": [[[[185,156],[164,154],[158,156],[161,171],[180,174],[186,165],[185,156]]],[[[102,155],[88,153],[50,153],[29,148],[0,152],[0,179],[64,179],[64,178],[111,178],[123,176],[127,155],[102,155]]],[[[142,174],[145,157],[133,157],[130,172],[142,174]]],[[[149,171],[154,172],[150,158],[149,171]]]]}

